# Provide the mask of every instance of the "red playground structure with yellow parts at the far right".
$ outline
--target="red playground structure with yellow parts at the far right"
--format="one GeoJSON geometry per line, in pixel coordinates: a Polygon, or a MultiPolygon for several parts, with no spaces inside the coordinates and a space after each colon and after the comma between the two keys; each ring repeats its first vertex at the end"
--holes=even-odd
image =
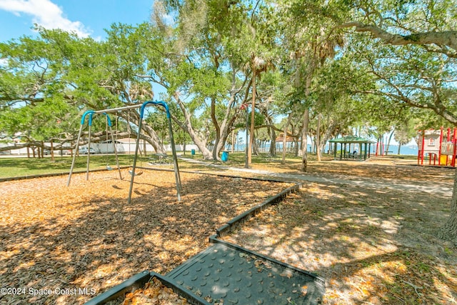
{"type": "Polygon", "coordinates": [[[457,129],[419,131],[419,151],[417,164],[423,165],[428,157],[428,165],[456,166],[457,129]],[[452,133],[451,133],[452,131],[452,133]],[[432,164],[433,162],[433,164],[432,164]]]}

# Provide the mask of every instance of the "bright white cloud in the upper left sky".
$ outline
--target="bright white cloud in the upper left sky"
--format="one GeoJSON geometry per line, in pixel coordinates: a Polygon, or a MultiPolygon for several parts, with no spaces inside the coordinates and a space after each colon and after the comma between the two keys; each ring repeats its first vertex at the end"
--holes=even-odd
{"type": "Polygon", "coordinates": [[[0,0],[0,9],[15,15],[31,15],[33,23],[45,29],[73,31],[80,37],[91,34],[80,21],[66,19],[61,8],[51,0],[0,0]]]}

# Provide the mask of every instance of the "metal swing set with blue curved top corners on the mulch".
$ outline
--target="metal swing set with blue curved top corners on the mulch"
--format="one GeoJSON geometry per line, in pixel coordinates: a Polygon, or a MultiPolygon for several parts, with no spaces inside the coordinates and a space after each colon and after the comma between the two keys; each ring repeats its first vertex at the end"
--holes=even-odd
{"type": "MultiPolygon", "coordinates": [[[[121,169],[120,169],[120,166],[119,166],[119,158],[118,158],[118,154],[117,154],[117,150],[116,150],[116,144],[114,142],[114,135],[113,135],[113,132],[112,132],[112,127],[111,127],[111,119],[109,119],[108,114],[109,113],[113,113],[113,112],[117,112],[117,111],[125,111],[125,110],[130,110],[130,109],[140,109],[140,113],[139,113],[140,119],[139,119],[139,124],[138,124],[138,134],[137,134],[137,137],[136,137],[136,147],[135,147],[135,154],[134,154],[134,162],[133,162],[132,169],[129,170],[129,174],[131,174],[131,180],[130,180],[128,203],[130,204],[131,203],[131,193],[133,191],[135,176],[139,176],[139,175],[142,174],[142,172],[136,173],[136,160],[138,159],[141,127],[143,126],[143,119],[144,119],[144,109],[146,108],[146,106],[149,106],[149,105],[162,106],[162,107],[164,107],[164,109],[166,111],[166,119],[167,119],[167,121],[169,123],[169,134],[170,134],[170,142],[171,142],[171,151],[172,151],[173,160],[174,160],[174,174],[175,174],[175,180],[176,180],[176,193],[177,193],[177,196],[178,196],[178,201],[181,201],[181,191],[182,191],[181,176],[179,175],[178,159],[176,157],[176,146],[174,144],[173,128],[171,126],[171,115],[170,115],[169,106],[164,101],[145,101],[143,104],[124,106],[124,107],[119,107],[119,108],[114,108],[114,109],[103,109],[103,110],[99,110],[99,111],[88,110],[88,111],[84,112],[84,114],[81,117],[81,126],[79,128],[79,134],[78,134],[78,139],[76,140],[76,148],[75,148],[75,150],[78,151],[78,148],[79,148],[79,141],[81,139],[81,134],[82,134],[82,131],[84,129],[86,116],[89,116],[89,119],[88,119],[88,126],[89,126],[88,150],[90,151],[90,148],[91,148],[92,118],[93,118],[94,114],[104,114],[106,116],[107,125],[109,126],[109,129],[110,129],[111,141],[114,144],[114,154],[116,155],[116,165],[117,165],[117,169],[119,171],[119,178],[122,180],[121,169]]],[[[90,154],[87,154],[86,180],[89,180],[89,159],[90,159],[90,154]]],[[[76,154],[74,154],[73,161],[71,162],[69,179],[67,181],[66,186],[70,185],[71,174],[73,174],[75,161],[76,161],[76,154]]],[[[112,170],[112,168],[111,168],[111,166],[109,166],[109,164],[106,165],[106,169],[112,170]]]]}

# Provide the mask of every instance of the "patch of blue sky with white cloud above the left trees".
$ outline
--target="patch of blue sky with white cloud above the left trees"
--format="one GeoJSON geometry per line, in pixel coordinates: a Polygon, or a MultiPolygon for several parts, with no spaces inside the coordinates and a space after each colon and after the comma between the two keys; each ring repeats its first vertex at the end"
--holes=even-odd
{"type": "Polygon", "coordinates": [[[104,39],[113,23],[149,21],[154,0],[0,0],[0,42],[34,36],[34,24],[104,39]]]}

